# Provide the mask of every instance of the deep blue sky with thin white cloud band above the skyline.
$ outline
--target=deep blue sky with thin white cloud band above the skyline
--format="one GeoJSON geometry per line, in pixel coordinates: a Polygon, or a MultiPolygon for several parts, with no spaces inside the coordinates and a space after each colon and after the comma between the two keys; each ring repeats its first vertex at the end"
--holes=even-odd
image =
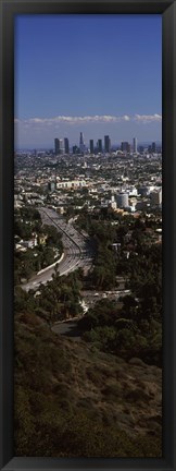
{"type": "Polygon", "coordinates": [[[15,147],[161,140],[160,15],[17,15],[15,147]]]}

